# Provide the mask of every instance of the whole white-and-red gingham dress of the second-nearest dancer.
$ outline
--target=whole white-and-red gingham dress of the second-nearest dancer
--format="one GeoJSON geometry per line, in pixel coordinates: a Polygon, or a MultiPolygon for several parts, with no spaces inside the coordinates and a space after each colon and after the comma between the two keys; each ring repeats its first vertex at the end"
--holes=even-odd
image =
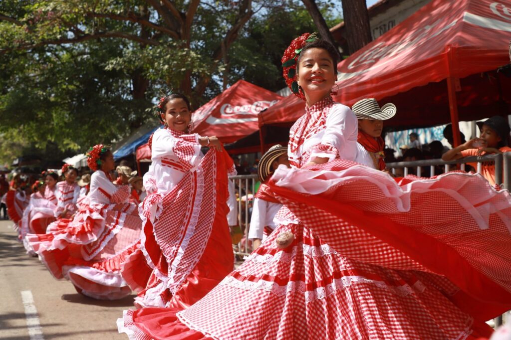
{"type": "Polygon", "coordinates": [[[141,247],[123,269],[138,306],[188,307],[233,270],[226,202],[234,163],[225,151],[203,157],[198,137],[170,129],[153,135],[141,247]]]}

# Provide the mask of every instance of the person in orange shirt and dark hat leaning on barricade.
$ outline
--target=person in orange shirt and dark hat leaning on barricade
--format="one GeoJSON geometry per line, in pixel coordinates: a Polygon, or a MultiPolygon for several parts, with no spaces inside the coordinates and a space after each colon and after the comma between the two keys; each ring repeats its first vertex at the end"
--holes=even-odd
{"type": "MultiPolygon", "coordinates": [[[[509,148],[509,123],[502,116],[493,116],[480,124],[479,138],[472,138],[458,147],[442,155],[442,160],[451,161],[469,156],[482,156],[487,154],[501,154],[511,151],[509,148]]],[[[477,168],[477,163],[467,163],[477,168]]],[[[490,184],[495,185],[495,162],[486,161],[481,164],[481,175],[490,184]]]]}

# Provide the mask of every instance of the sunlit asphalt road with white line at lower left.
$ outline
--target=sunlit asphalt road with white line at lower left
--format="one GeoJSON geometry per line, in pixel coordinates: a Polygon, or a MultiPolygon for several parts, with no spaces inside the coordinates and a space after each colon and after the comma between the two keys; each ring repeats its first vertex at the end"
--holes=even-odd
{"type": "Polygon", "coordinates": [[[115,321],[134,296],[99,301],[78,294],[26,254],[11,225],[0,220],[0,339],[127,339],[115,321]]]}

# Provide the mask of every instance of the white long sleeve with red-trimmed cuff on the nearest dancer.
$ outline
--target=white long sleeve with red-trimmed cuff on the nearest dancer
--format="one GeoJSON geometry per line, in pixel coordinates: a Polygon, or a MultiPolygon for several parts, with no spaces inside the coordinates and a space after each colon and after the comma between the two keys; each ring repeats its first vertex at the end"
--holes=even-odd
{"type": "Polygon", "coordinates": [[[338,157],[355,160],[357,155],[358,122],[353,111],[344,105],[332,107],[327,120],[326,130],[319,144],[312,147],[311,159],[326,157],[330,160],[338,157]]]}

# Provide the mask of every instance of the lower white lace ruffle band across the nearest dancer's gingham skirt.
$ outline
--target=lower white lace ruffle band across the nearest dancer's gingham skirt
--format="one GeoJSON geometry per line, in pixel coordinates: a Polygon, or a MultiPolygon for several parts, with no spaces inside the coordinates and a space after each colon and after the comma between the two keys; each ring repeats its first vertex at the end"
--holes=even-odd
{"type": "Polygon", "coordinates": [[[402,286],[389,286],[383,281],[375,281],[366,279],[363,276],[343,276],[339,279],[334,279],[331,284],[328,284],[324,287],[318,287],[312,290],[306,290],[304,281],[289,281],[287,285],[281,286],[273,281],[265,281],[259,280],[257,282],[253,281],[240,281],[232,276],[227,276],[225,279],[220,282],[221,285],[226,285],[229,287],[235,287],[244,290],[265,290],[266,292],[271,292],[276,296],[284,296],[289,293],[300,293],[305,295],[305,301],[307,303],[316,301],[318,299],[325,299],[333,294],[335,294],[338,290],[345,289],[347,287],[351,287],[353,283],[367,283],[374,284],[379,288],[383,288],[389,290],[393,294],[399,296],[407,296],[412,293],[422,293],[426,287],[420,281],[417,281],[413,286],[408,284],[402,286]]]}

